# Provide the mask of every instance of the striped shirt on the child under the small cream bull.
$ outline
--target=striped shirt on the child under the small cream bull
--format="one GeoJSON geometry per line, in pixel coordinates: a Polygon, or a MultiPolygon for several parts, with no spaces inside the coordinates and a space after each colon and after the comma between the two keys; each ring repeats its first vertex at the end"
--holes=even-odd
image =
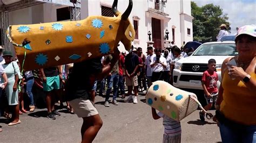
{"type": "Polygon", "coordinates": [[[181,125],[179,121],[173,120],[162,112],[158,112],[157,115],[163,118],[164,133],[169,136],[181,134],[181,125]]]}

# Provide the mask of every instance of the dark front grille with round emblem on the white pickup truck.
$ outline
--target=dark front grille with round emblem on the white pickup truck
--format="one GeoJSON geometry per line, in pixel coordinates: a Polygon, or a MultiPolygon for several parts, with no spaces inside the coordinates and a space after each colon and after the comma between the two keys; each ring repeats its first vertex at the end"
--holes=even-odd
{"type": "Polygon", "coordinates": [[[207,64],[203,63],[183,63],[181,70],[182,71],[192,71],[192,72],[204,72],[208,69],[207,64]]]}

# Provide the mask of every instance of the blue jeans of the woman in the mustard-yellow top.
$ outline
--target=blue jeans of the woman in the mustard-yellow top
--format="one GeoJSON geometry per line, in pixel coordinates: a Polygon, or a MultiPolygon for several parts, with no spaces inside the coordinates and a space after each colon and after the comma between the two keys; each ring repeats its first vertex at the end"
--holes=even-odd
{"type": "Polygon", "coordinates": [[[240,125],[240,127],[234,125],[230,127],[221,123],[219,127],[223,143],[256,143],[256,125],[240,125]]]}

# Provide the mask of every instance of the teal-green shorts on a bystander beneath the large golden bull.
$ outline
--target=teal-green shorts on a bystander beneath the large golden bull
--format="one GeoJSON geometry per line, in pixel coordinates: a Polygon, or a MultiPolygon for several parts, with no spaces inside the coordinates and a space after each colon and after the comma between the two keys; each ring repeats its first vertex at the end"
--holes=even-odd
{"type": "Polygon", "coordinates": [[[43,88],[44,88],[44,91],[59,89],[59,75],[46,77],[46,82],[43,82],[43,88]]]}

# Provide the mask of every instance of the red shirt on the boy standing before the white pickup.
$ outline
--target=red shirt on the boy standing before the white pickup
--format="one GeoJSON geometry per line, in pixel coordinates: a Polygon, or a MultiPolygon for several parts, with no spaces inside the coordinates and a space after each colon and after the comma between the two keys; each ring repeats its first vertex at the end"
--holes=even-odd
{"type": "Polygon", "coordinates": [[[206,70],[203,73],[202,81],[204,82],[205,87],[210,94],[218,92],[218,88],[217,88],[218,80],[219,78],[215,71],[206,70]]]}

